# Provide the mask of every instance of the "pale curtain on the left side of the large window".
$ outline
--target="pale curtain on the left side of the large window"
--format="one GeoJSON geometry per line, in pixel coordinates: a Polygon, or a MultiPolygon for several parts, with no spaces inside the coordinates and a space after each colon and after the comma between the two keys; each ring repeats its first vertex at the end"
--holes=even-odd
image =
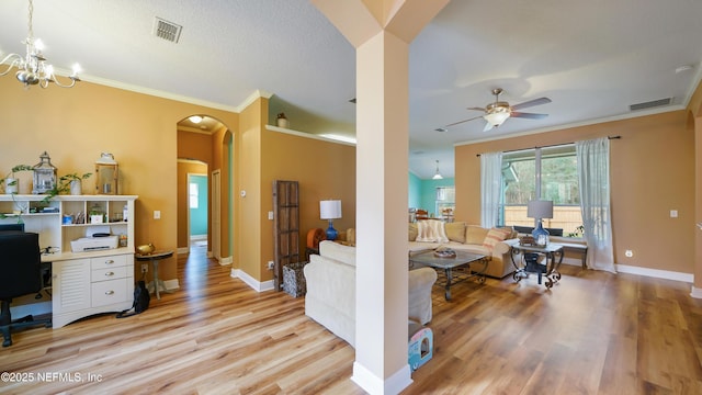
{"type": "Polygon", "coordinates": [[[502,153],[480,154],[480,226],[497,226],[502,188],[502,153]]]}

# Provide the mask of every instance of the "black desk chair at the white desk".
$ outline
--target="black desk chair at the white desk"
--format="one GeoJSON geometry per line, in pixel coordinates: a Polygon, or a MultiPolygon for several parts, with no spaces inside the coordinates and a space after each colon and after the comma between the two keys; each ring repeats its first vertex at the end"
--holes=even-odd
{"type": "Polygon", "coordinates": [[[13,297],[36,293],[42,289],[39,235],[18,230],[0,232],[0,331],[2,347],[12,345],[10,331],[35,325],[52,326],[50,318],[34,320],[31,315],[12,320],[10,303],[13,297]]]}

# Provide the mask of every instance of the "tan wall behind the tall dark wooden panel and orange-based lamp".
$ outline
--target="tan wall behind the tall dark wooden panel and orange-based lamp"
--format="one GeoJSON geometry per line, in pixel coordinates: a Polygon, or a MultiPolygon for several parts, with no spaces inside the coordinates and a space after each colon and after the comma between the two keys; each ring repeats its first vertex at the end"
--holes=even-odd
{"type": "MultiPolygon", "coordinates": [[[[355,227],[355,147],[313,139],[296,135],[264,131],[265,150],[262,156],[261,179],[261,263],[274,260],[273,221],[268,212],[273,211],[273,181],[297,181],[299,187],[299,239],[304,256],[307,232],[328,227],[319,219],[319,201],[341,200],[342,218],[335,219],[333,227],[343,232],[355,227]]],[[[272,279],[264,271],[263,280],[272,279]]]]}

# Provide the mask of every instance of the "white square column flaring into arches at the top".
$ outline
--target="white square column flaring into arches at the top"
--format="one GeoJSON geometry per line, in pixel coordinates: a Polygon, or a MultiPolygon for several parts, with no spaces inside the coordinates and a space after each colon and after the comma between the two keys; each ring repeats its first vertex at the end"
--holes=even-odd
{"type": "Polygon", "coordinates": [[[397,394],[407,362],[409,43],[449,0],[312,0],[356,48],[356,384],[397,394]]]}

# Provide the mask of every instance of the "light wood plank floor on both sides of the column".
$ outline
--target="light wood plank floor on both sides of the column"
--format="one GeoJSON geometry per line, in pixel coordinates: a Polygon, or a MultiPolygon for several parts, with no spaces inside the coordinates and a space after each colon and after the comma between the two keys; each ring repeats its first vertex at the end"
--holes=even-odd
{"type": "MultiPolygon", "coordinates": [[[[258,294],[229,270],[193,253],[179,259],[181,290],[138,316],[16,332],[0,372],[34,382],[0,393],[363,394],[353,349],[302,297],[258,294]]],[[[433,359],[403,394],[702,394],[690,284],[563,272],[551,292],[534,276],[462,283],[452,302],[434,287],[433,359]]]]}

